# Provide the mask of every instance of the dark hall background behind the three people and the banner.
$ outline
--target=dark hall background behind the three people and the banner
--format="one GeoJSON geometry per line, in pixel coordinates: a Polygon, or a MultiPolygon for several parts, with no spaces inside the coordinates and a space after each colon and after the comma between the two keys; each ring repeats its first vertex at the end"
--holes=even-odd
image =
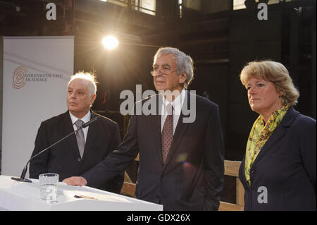
{"type": "MultiPolygon", "coordinates": [[[[238,10],[233,0],[154,0],[154,10],[139,2],[0,0],[0,36],[75,36],[74,72],[97,74],[93,109],[118,122],[122,135],[120,92],[135,92],[137,84],[142,91],[154,90],[149,73],[153,56],[166,46],[192,56],[194,81],[189,90],[219,105],[225,159],[242,160],[257,117],[239,79],[248,61],[271,59],[287,66],[301,94],[295,109],[316,118],[316,0],[260,1],[268,4],[268,20],[257,17],[255,0],[242,1],[238,10]],[[46,19],[49,2],[56,4],[56,20],[46,19]],[[110,34],[119,39],[119,46],[107,51],[101,39],[110,34]]],[[[135,168],[129,168],[134,181],[135,168]]],[[[233,182],[225,178],[222,200],[235,199],[233,182]]]]}

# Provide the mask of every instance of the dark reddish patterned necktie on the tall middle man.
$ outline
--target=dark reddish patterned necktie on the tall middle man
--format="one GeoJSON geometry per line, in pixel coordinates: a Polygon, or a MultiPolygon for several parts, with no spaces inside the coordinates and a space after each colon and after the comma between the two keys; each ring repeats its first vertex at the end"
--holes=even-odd
{"type": "Polygon", "coordinates": [[[168,116],[166,117],[163,130],[162,130],[162,154],[163,163],[165,164],[168,152],[170,150],[170,144],[173,140],[173,107],[172,104],[168,104],[166,107],[168,116]]]}

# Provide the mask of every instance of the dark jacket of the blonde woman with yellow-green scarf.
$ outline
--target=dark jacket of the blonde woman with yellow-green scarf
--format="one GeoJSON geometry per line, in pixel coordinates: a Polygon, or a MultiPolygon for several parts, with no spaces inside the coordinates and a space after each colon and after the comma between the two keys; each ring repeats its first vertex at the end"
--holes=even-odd
{"type": "Polygon", "coordinates": [[[251,166],[251,187],[240,181],[245,210],[316,210],[316,121],[293,107],[274,130],[251,166]],[[263,200],[266,187],[267,203],[263,200]],[[258,192],[259,191],[259,192],[258,192]]]}

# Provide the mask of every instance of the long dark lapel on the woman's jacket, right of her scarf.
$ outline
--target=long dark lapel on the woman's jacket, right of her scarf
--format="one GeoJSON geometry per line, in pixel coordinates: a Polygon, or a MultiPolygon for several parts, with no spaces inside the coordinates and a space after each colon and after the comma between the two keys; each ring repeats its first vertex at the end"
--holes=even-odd
{"type": "Polygon", "coordinates": [[[293,107],[290,107],[290,109],[285,114],[284,118],[282,118],[282,121],[280,122],[279,126],[275,128],[273,134],[270,138],[266,141],[265,145],[262,147],[261,151],[259,152],[259,155],[254,160],[255,166],[259,160],[270,150],[272,150],[273,146],[275,145],[278,140],[282,139],[284,135],[287,133],[288,128],[292,125],[294,118],[299,114],[298,111],[295,111],[293,107]]]}

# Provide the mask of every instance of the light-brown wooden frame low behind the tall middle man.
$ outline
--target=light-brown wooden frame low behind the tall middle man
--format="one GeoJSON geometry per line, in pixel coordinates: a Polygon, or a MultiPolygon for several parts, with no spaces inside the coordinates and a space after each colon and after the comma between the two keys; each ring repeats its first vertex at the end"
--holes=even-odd
{"type": "MultiPolygon", "coordinates": [[[[136,161],[139,161],[139,155],[137,155],[136,161]]],[[[225,175],[236,177],[236,204],[220,201],[219,211],[241,211],[244,208],[244,188],[239,180],[239,167],[241,162],[225,160],[225,175]]],[[[125,172],[125,181],[121,189],[122,195],[135,197],[135,183],[132,183],[129,175],[125,172]]]]}

